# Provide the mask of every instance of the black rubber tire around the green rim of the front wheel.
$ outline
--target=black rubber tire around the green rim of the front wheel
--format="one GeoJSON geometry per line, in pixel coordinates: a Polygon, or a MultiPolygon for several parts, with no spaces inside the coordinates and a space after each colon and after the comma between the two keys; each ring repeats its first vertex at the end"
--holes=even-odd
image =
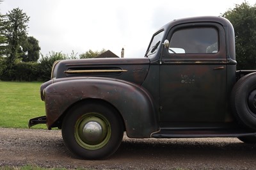
{"type": "Polygon", "coordinates": [[[68,111],[67,116],[65,116],[62,125],[62,135],[65,145],[74,155],[87,159],[101,159],[109,157],[118,149],[124,135],[123,129],[122,120],[115,109],[102,104],[80,104],[72,107],[68,111]],[[111,137],[108,143],[97,150],[83,148],[77,143],[75,137],[77,120],[89,112],[102,114],[109,121],[111,127],[111,137]]]}

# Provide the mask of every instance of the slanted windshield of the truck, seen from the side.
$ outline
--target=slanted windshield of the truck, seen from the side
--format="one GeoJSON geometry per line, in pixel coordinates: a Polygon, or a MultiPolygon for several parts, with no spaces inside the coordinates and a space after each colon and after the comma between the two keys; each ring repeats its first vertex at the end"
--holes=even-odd
{"type": "Polygon", "coordinates": [[[148,57],[157,52],[157,50],[160,47],[159,44],[161,43],[161,40],[163,40],[163,35],[164,35],[164,31],[161,31],[153,36],[151,43],[149,45],[149,48],[145,54],[145,57],[148,57]]]}

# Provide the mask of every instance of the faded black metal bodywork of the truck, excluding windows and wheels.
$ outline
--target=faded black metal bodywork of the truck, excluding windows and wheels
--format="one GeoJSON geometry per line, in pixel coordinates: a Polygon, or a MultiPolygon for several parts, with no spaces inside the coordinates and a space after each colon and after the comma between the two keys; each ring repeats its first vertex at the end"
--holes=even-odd
{"type": "Polygon", "coordinates": [[[221,17],[195,17],[173,20],[159,31],[163,31],[163,39],[149,58],[76,59],[56,63],[53,80],[41,87],[48,127],[58,127],[61,116],[77,102],[98,99],[120,112],[129,137],[248,134],[230,111],[230,91],[244,73],[255,70],[236,72],[234,29],[230,22],[221,17]],[[214,27],[219,35],[218,52],[170,54],[163,47],[173,31],[191,26],[214,27]],[[115,69],[127,72],[65,73],[115,69]]]}

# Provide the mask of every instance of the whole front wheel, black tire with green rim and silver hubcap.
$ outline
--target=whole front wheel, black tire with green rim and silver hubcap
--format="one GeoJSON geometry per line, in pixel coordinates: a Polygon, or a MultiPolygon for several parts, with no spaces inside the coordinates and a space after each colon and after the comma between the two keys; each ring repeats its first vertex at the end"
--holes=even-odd
{"type": "Polygon", "coordinates": [[[107,158],[118,149],[124,135],[120,114],[111,105],[75,105],[62,123],[62,137],[68,150],[84,159],[107,158]]]}

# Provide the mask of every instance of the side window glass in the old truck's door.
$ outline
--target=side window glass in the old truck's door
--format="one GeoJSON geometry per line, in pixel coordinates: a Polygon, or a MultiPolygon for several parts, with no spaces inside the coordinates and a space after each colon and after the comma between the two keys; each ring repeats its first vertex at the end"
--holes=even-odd
{"type": "Polygon", "coordinates": [[[217,53],[218,31],[214,27],[191,27],[175,31],[170,40],[170,54],[217,53]]]}

